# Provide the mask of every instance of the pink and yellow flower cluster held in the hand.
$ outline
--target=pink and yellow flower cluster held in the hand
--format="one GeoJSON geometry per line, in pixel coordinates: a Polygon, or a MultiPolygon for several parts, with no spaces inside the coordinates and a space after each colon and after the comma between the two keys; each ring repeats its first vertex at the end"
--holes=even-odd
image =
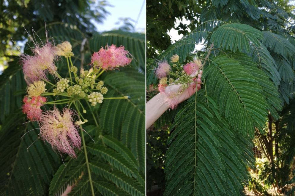
{"type": "Polygon", "coordinates": [[[175,109],[179,102],[179,95],[184,93],[187,88],[193,83],[197,83],[196,87],[201,88],[201,76],[203,64],[201,60],[195,58],[192,62],[188,62],[185,65],[180,64],[179,56],[177,54],[171,57],[170,61],[173,68],[167,61],[158,62],[157,68],[155,68],[155,75],[159,79],[158,91],[160,94],[165,95],[164,103],[168,104],[171,109],[175,109]],[[173,70],[176,70],[173,72],[173,70]],[[173,79],[171,75],[178,79],[173,79]],[[177,92],[168,91],[168,86],[177,86],[177,92]]]}

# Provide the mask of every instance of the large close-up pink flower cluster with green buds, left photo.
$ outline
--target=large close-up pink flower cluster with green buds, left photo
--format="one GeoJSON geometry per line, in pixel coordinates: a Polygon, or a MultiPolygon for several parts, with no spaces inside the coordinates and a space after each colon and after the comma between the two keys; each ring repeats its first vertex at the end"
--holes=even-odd
{"type": "MultiPolygon", "coordinates": [[[[31,40],[33,41],[32,38],[31,40]]],[[[24,78],[28,84],[27,95],[23,98],[23,113],[30,121],[39,123],[39,137],[50,143],[53,150],[76,158],[75,150],[80,150],[81,147],[79,128],[82,129],[81,125],[88,122],[80,112],[81,108],[83,113],[87,112],[81,102],[87,103],[90,109],[97,103],[102,103],[104,99],[128,99],[127,96],[104,98],[103,95],[108,89],[104,86],[104,82],[99,80],[99,76],[106,70],[129,65],[132,58],[129,58],[124,46],[118,48],[115,45],[106,46],[105,49],[101,48],[92,55],[92,68],[89,70],[81,68],[78,71],[71,60],[74,54],[70,42],[65,41],[57,46],[48,39],[43,45],[34,42],[32,51],[31,56],[26,54],[20,56],[24,78]],[[67,61],[68,78],[61,77],[55,66],[61,56],[67,61]],[[53,75],[56,84],[49,81],[49,74],[53,75]],[[48,102],[48,96],[55,101],[48,102]],[[54,96],[66,99],[56,100],[54,96]],[[46,104],[53,107],[44,110],[46,104]],[[56,105],[60,104],[64,105],[63,110],[57,109],[56,105]],[[71,109],[71,106],[75,107],[75,110],[71,109]]]]}

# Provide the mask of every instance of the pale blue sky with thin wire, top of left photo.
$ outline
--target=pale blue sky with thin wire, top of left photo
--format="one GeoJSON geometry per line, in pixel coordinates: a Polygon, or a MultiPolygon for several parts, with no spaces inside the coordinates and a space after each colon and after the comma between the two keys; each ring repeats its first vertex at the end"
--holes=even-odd
{"type": "Polygon", "coordinates": [[[138,23],[135,26],[136,32],[145,32],[146,28],[146,4],[145,0],[108,0],[108,4],[113,7],[105,7],[105,9],[110,12],[110,15],[106,16],[106,20],[104,20],[103,24],[94,23],[97,31],[108,31],[113,29],[118,29],[123,23],[115,24],[119,21],[119,18],[131,18],[134,20],[132,25],[135,25],[135,21],[138,18],[138,23]],[[144,4],[144,5],[143,5],[144,4]],[[143,5],[143,9],[141,14],[139,13],[141,7],[143,5]],[[140,14],[140,15],[139,15],[140,14]]]}

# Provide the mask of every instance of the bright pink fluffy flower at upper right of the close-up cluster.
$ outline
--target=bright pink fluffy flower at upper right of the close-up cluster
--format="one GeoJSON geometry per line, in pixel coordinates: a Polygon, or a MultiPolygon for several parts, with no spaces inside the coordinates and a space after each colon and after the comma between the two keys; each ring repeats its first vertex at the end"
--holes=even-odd
{"type": "Polygon", "coordinates": [[[113,44],[95,52],[91,57],[91,63],[94,67],[113,70],[130,64],[132,58],[130,59],[128,54],[129,52],[125,50],[124,46],[117,48],[113,44]]]}

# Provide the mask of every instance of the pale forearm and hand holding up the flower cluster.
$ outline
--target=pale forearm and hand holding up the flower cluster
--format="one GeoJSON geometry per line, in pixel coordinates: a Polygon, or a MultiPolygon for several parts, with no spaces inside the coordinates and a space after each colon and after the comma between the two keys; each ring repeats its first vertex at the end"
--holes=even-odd
{"type": "MultiPolygon", "coordinates": [[[[201,70],[200,70],[201,71],[201,70]]],[[[185,89],[185,91],[182,94],[179,94],[179,103],[183,102],[184,100],[187,100],[196,92],[196,87],[198,90],[201,89],[201,76],[198,76],[198,79],[196,80],[196,77],[192,79],[194,82],[191,83],[191,85],[185,89]],[[196,83],[197,81],[197,83],[196,83]]],[[[180,87],[179,85],[173,85],[173,86],[167,86],[166,92],[174,91],[177,92],[180,87]]],[[[146,103],[146,129],[148,129],[152,124],[157,121],[160,116],[169,109],[169,105],[164,103],[164,97],[163,94],[157,94],[154,96],[151,100],[149,100],[146,103]]]]}

